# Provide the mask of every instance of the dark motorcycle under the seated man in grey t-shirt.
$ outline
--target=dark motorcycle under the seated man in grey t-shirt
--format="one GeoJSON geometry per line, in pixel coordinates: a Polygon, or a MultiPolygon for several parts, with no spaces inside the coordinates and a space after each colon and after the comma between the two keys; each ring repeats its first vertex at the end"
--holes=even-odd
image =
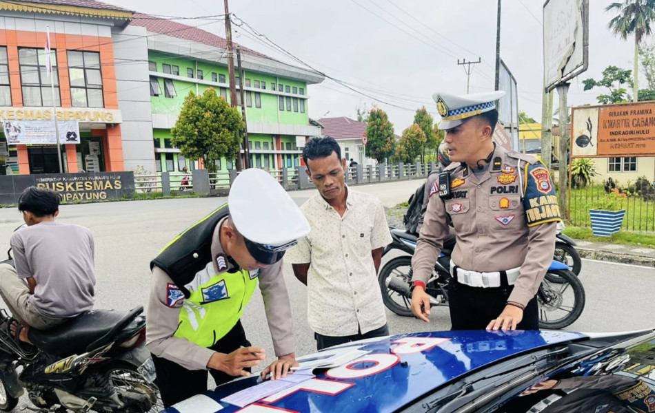
{"type": "Polygon", "coordinates": [[[49,330],[30,328],[34,346],[26,346],[0,310],[0,410],[12,410],[26,391],[37,412],[162,410],[141,313],[143,306],[89,310],[49,330]]]}

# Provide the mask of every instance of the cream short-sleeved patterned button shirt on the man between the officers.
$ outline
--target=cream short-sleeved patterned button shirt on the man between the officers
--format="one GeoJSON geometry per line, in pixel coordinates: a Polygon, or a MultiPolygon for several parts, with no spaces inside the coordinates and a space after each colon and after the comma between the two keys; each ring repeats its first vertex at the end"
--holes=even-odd
{"type": "Polygon", "coordinates": [[[392,239],[382,202],[347,188],[343,217],[320,193],[301,210],[310,234],[285,254],[292,264],[310,264],[308,319],[321,335],[369,332],[387,322],[371,251],[392,239]]]}

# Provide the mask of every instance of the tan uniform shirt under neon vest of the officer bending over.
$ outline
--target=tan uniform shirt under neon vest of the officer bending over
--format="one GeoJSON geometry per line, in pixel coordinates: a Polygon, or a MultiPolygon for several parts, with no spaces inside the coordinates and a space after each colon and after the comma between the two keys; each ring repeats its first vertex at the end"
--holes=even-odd
{"type": "MultiPolygon", "coordinates": [[[[231,260],[227,260],[228,267],[219,271],[216,266],[216,257],[225,253],[219,240],[219,231],[225,220],[221,220],[212,240],[212,262],[209,262],[199,274],[202,277],[212,277],[234,269],[231,260]]],[[[259,289],[264,300],[268,328],[273,339],[273,348],[276,356],[294,352],[293,324],[291,304],[282,275],[282,261],[259,270],[259,289]]],[[[178,363],[188,370],[206,370],[209,359],[214,350],[198,346],[187,339],[174,337],[179,325],[179,314],[182,301],[179,300],[173,307],[168,306],[168,283],[172,279],[161,268],[152,269],[150,283],[150,299],[148,301],[148,328],[146,330],[146,343],[148,349],[157,357],[162,357],[178,363]]]]}

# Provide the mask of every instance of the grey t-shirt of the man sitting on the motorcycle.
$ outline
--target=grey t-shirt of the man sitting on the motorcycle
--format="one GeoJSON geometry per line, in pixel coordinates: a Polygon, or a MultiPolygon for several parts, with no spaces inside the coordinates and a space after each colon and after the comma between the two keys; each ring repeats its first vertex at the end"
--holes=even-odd
{"type": "Polygon", "coordinates": [[[93,308],[94,242],[79,225],[41,222],[14,232],[12,253],[19,278],[37,282],[30,304],[46,317],[74,317],[93,308]]]}

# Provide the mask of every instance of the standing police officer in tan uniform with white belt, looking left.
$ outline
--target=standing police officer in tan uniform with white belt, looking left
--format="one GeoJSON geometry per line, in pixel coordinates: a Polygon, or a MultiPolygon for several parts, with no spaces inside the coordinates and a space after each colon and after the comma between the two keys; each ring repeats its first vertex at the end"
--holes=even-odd
{"type": "Polygon", "coordinates": [[[457,243],[448,286],[453,330],[537,330],[536,292],[561,221],[550,175],[534,156],[496,145],[496,100],[505,92],[432,97],[452,164],[430,195],[412,258],[412,311],[428,321],[425,283],[448,235],[457,243]]]}

